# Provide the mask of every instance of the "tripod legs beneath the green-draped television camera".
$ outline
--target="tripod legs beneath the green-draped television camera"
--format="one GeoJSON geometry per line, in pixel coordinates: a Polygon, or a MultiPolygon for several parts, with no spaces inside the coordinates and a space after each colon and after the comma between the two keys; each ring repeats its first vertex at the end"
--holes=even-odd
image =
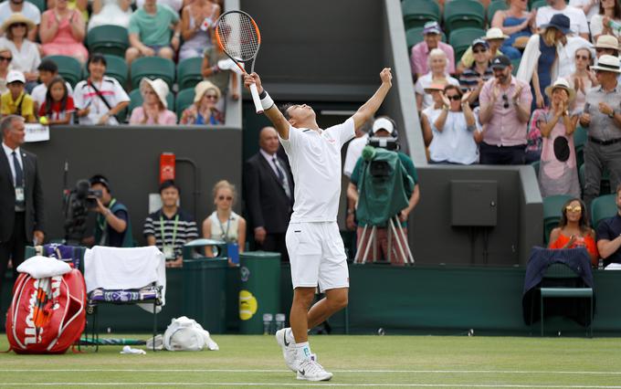
{"type": "MultiPolygon", "coordinates": [[[[364,264],[366,263],[367,258],[369,257],[369,249],[373,246],[374,258],[373,261],[376,261],[376,253],[377,253],[377,226],[371,227],[371,234],[367,238],[366,231],[368,230],[369,225],[364,226],[363,235],[360,237],[360,242],[358,242],[358,249],[356,251],[356,256],[353,258],[353,263],[364,264]],[[363,244],[366,241],[366,247],[364,247],[363,253],[363,244]],[[362,257],[361,257],[361,254],[362,257]]],[[[403,258],[405,264],[414,265],[414,257],[412,256],[412,250],[410,249],[409,244],[407,243],[407,237],[405,236],[405,231],[401,226],[401,222],[399,221],[398,216],[393,216],[387,221],[387,230],[388,230],[388,244],[386,247],[386,260],[390,263],[393,256],[393,248],[395,248],[395,254],[398,257],[399,255],[403,258]],[[396,225],[396,227],[395,227],[396,225]],[[396,245],[393,243],[393,239],[396,241],[396,245]]]]}

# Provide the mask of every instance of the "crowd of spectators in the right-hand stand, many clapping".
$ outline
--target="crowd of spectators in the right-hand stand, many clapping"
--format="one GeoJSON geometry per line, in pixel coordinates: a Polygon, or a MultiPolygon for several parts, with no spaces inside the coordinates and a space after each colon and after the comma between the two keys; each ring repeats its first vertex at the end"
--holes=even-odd
{"type": "MultiPolygon", "coordinates": [[[[442,26],[424,26],[423,40],[411,48],[411,67],[427,159],[533,163],[542,197],[572,197],[551,247],[587,247],[596,265],[611,255],[609,248],[619,248],[610,246],[615,236],[601,252],[595,242],[612,236],[599,229],[595,235],[586,211],[606,174],[613,191],[621,188],[621,5],[547,0],[530,9],[530,3],[507,0],[489,15],[487,32],[461,49],[456,67],[450,58],[458,48],[442,42],[442,26]],[[586,138],[579,151],[578,132],[586,138]]],[[[618,229],[615,220],[608,225],[618,229]]]]}

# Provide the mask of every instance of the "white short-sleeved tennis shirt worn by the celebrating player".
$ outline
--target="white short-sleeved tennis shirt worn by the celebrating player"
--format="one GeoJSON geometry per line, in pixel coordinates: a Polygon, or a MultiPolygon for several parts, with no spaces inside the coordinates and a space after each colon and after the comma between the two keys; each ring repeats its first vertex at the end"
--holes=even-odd
{"type": "Polygon", "coordinates": [[[289,156],[295,183],[291,223],[335,222],[341,196],[341,148],[355,136],[349,118],[326,130],[289,126],[289,139],[279,137],[289,156]]]}

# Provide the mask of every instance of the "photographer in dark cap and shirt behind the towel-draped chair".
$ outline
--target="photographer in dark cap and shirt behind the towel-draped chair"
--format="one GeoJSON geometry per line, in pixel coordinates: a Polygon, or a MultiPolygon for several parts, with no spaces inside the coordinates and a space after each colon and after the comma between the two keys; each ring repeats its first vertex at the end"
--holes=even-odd
{"type": "Polygon", "coordinates": [[[101,196],[96,198],[97,206],[94,210],[97,215],[95,236],[84,238],[87,246],[133,247],[132,224],[130,214],[125,205],[112,197],[108,179],[95,174],[89,179],[90,189],[100,191],[101,196]]]}

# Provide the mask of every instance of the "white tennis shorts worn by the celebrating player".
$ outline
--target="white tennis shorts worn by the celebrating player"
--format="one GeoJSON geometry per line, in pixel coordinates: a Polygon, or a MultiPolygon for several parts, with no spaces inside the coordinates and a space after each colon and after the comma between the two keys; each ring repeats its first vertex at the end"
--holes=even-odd
{"type": "Polygon", "coordinates": [[[289,223],[286,241],[293,289],[349,288],[347,256],[336,222],[289,223]]]}

